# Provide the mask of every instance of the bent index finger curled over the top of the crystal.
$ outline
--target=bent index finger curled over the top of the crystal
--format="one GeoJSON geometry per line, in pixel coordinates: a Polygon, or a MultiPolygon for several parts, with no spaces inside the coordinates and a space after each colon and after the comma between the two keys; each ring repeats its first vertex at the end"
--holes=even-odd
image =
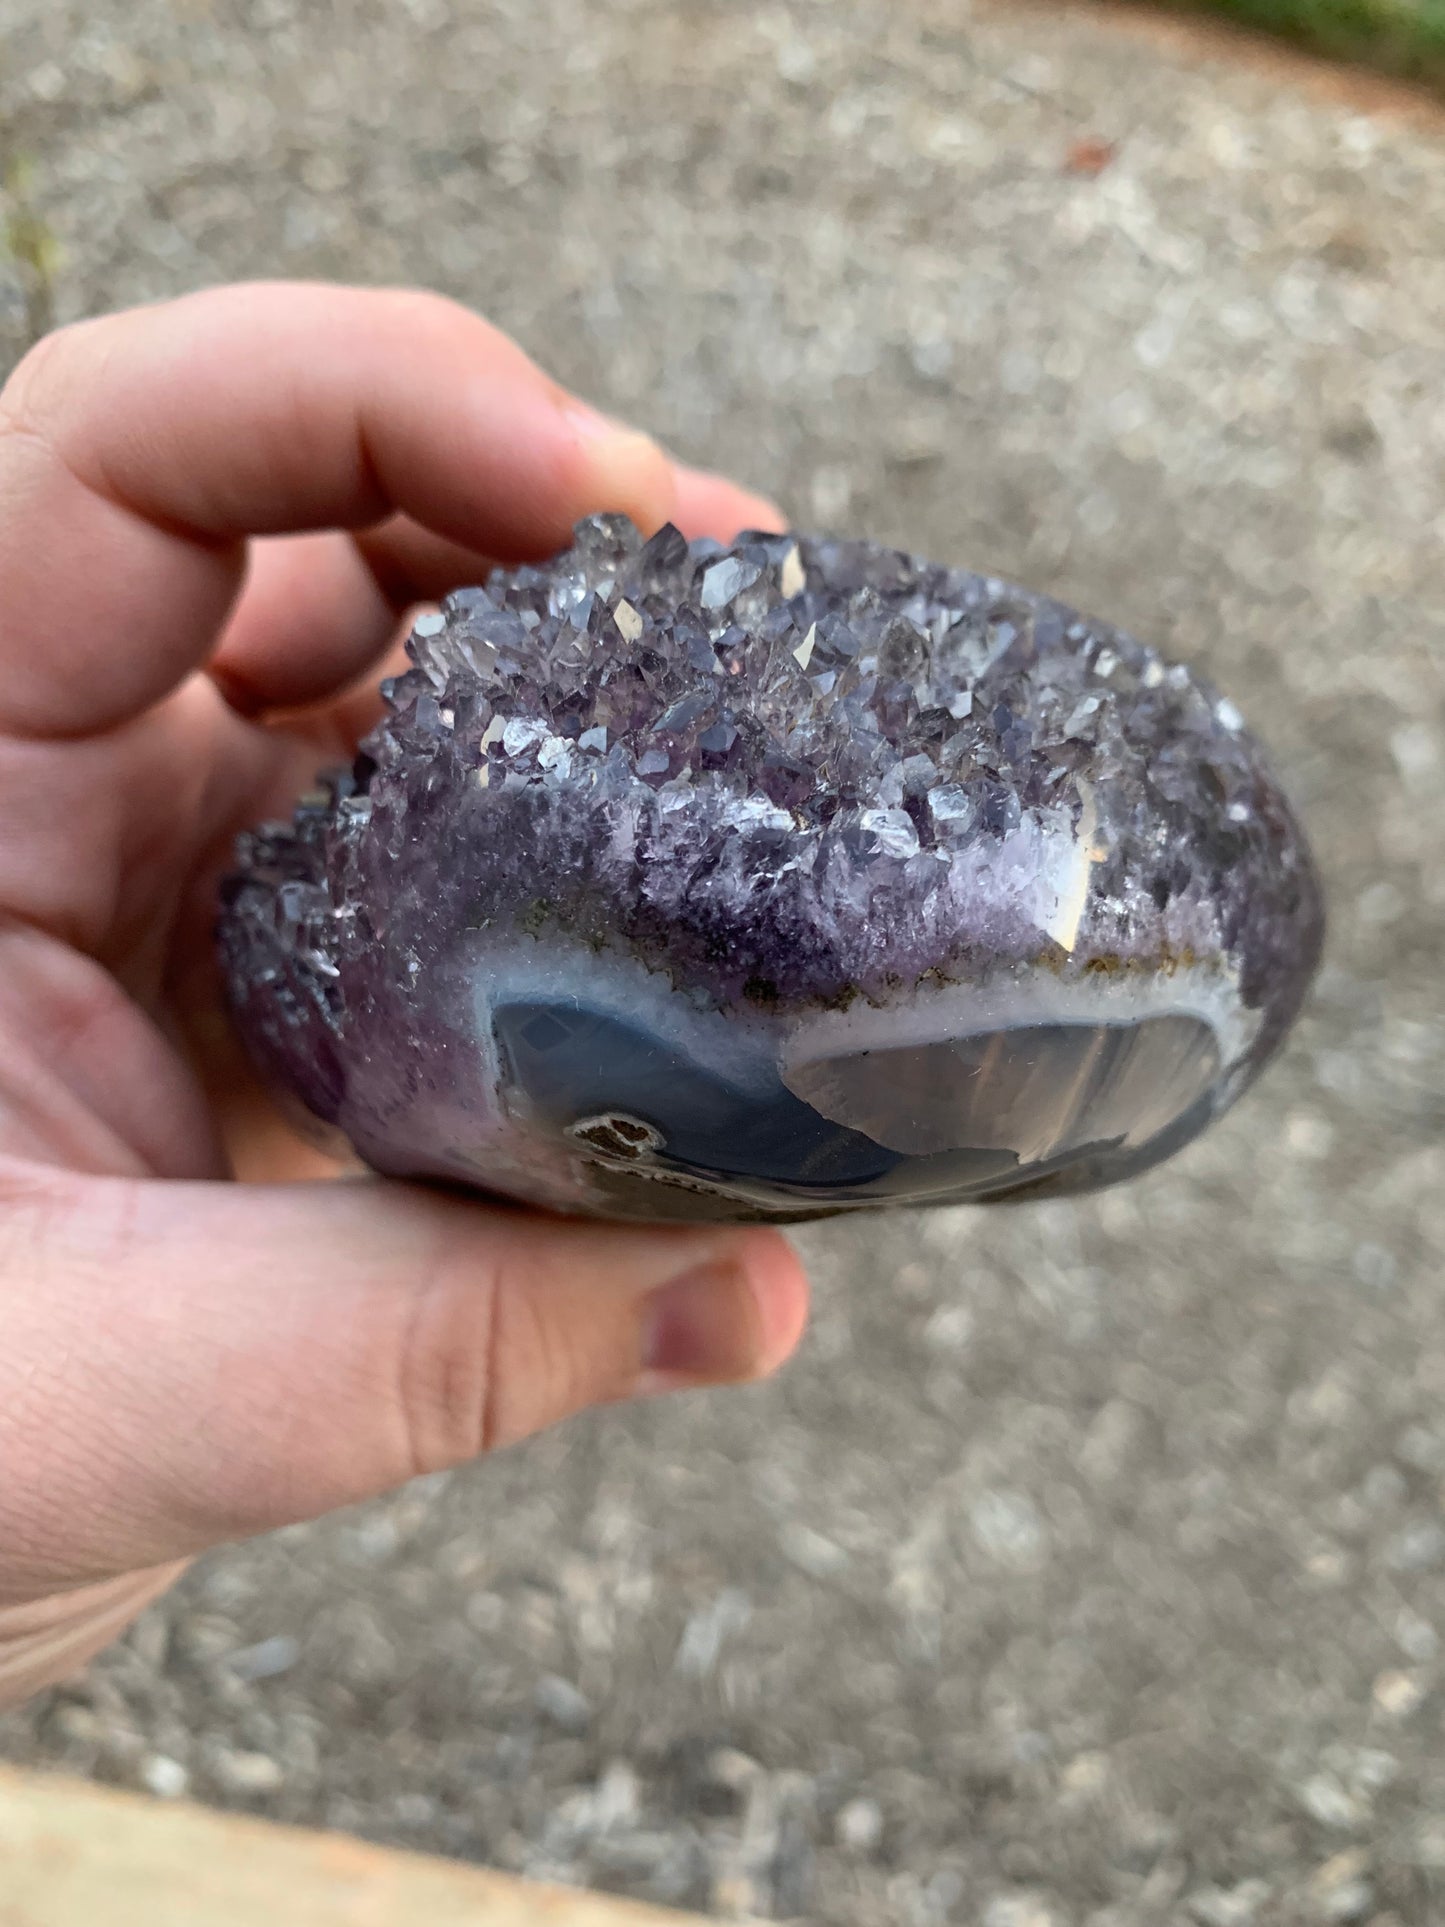
{"type": "Polygon", "coordinates": [[[160,700],[210,653],[247,536],[401,511],[514,561],[676,495],[649,437],[437,295],[256,283],[81,322],[0,393],[0,728],[160,700]]]}

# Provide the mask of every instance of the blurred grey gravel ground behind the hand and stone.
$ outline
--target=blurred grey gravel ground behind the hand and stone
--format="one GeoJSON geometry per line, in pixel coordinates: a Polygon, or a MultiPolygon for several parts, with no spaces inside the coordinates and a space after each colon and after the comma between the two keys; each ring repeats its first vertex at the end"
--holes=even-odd
{"type": "Polygon", "coordinates": [[[809,1231],[778,1384],[218,1555],[0,1746],[722,1915],[1445,1921],[1439,131],[963,0],[0,37],[60,316],[449,289],[803,522],[1200,657],[1335,917],[1169,1170],[809,1231]]]}

